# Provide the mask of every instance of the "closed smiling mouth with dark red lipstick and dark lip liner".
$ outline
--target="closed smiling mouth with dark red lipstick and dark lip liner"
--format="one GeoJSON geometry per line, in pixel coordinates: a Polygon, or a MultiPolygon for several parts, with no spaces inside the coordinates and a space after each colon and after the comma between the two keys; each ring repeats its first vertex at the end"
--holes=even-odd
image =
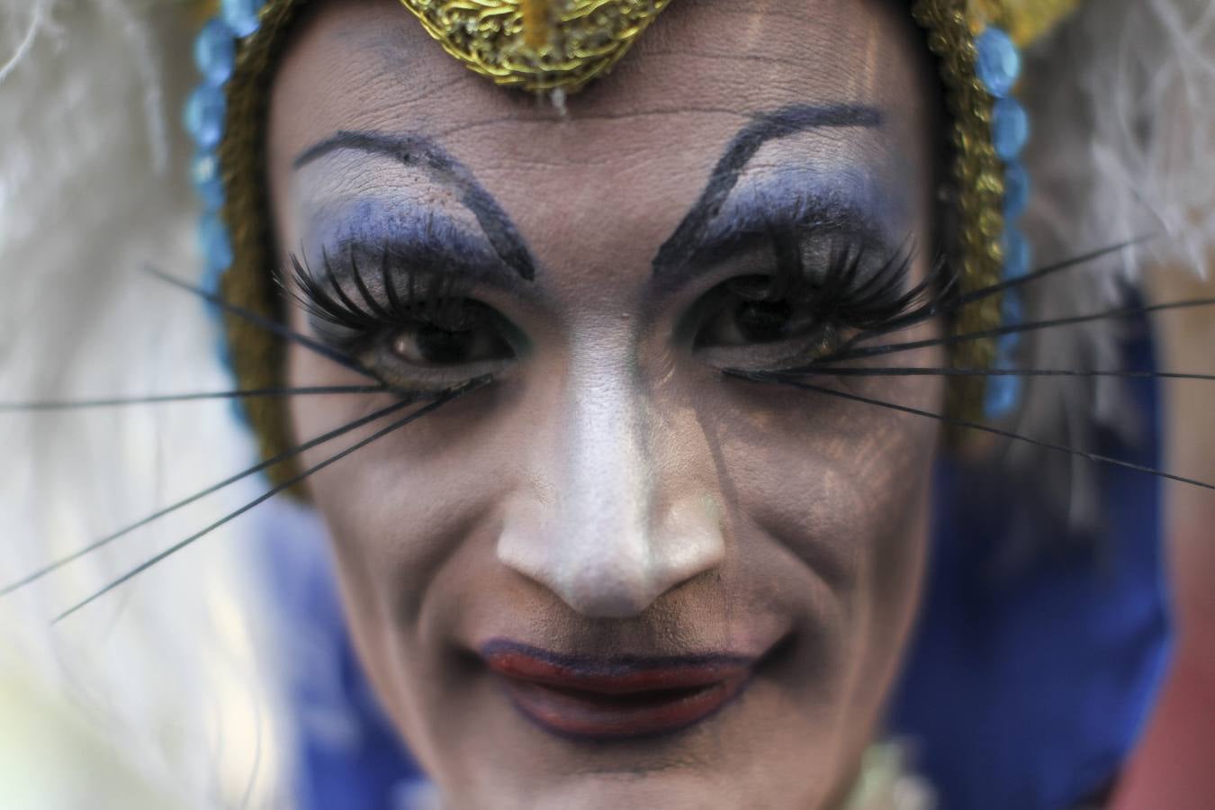
{"type": "Polygon", "coordinates": [[[696,656],[566,656],[497,639],[481,658],[515,707],[565,737],[621,740],[672,733],[738,697],[756,659],[696,656]]]}

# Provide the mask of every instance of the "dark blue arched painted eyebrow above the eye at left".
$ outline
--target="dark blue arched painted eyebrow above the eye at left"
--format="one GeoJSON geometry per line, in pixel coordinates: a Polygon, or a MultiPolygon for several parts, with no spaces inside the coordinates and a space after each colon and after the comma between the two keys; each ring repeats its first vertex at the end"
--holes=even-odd
{"type": "Polygon", "coordinates": [[[440,182],[453,186],[460,204],[476,217],[502,262],[526,281],[536,278],[536,261],[507,213],[464,164],[430,138],[422,135],[395,136],[343,130],[304,149],[292,166],[301,169],[339,149],[388,155],[402,165],[425,169],[440,182]]]}

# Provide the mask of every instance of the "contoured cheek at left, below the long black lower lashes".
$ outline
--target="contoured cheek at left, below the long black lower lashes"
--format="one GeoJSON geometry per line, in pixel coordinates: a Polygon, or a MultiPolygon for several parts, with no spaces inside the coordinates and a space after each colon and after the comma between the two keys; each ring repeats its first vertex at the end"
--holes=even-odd
{"type": "MultiPolygon", "coordinates": [[[[362,378],[292,350],[295,386],[361,385],[362,378]]],[[[518,420],[502,419],[516,397],[491,386],[390,432],[313,475],[307,489],[329,528],[352,618],[400,624],[418,605],[442,562],[479,544],[484,519],[501,502],[502,475],[525,437],[518,420]]],[[[290,417],[296,441],[340,427],[390,406],[389,396],[296,397],[290,417]]],[[[420,406],[407,406],[309,451],[303,465],[322,461],[420,406]]],[[[490,545],[492,549],[492,543],[490,545]]],[[[357,628],[356,628],[357,631],[357,628]]]]}

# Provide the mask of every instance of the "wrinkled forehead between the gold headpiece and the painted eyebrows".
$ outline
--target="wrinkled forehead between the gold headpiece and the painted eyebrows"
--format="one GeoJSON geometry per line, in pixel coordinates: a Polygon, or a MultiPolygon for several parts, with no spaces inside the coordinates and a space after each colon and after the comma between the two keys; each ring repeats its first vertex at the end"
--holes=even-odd
{"type": "Polygon", "coordinates": [[[652,256],[740,130],[792,104],[872,107],[881,125],[773,138],[748,174],[859,171],[871,186],[922,189],[933,121],[923,50],[889,0],[678,0],[612,74],[560,111],[469,72],[397,0],[318,2],[275,80],[269,159],[281,227],[284,197],[441,198],[383,157],[341,153],[327,159],[337,168],[293,168],[310,146],[350,130],[430,138],[550,262],[620,256],[622,233],[645,245],[638,259],[652,256]],[[571,233],[577,255],[556,255],[571,233]]]}

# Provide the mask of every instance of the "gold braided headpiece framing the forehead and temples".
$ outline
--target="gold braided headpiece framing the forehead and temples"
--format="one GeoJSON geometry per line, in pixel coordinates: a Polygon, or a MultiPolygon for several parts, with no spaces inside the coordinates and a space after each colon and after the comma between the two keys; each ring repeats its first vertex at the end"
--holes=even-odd
{"type": "MultiPolygon", "coordinates": [[[[524,90],[576,91],[616,64],[669,0],[402,0],[445,51],[497,84],[524,90]]],[[[276,261],[265,153],[266,109],[273,66],[307,0],[267,0],[242,33],[231,78],[224,85],[226,117],[219,158],[225,191],[222,220],[231,237],[232,264],[224,274],[225,298],[278,318],[278,296],[269,267],[276,261]],[[248,34],[248,35],[245,35],[248,34]]],[[[1004,264],[1004,165],[993,135],[994,98],[979,78],[976,40],[999,27],[1018,44],[1046,33],[1079,0],[914,0],[911,13],[938,57],[953,118],[953,181],[960,221],[951,245],[965,294],[999,281],[1004,264]]],[[[988,298],[956,318],[959,333],[1000,324],[1000,302],[988,298]]],[[[232,364],[244,389],[282,385],[283,347],[242,319],[227,324],[232,364]]],[[[953,346],[959,367],[988,367],[994,345],[970,340],[953,346]]],[[[954,415],[976,418],[984,378],[951,381],[954,415]]],[[[265,457],[292,446],[282,406],[250,400],[248,415],[265,457]]],[[[276,478],[290,470],[279,465],[276,478]]]]}

